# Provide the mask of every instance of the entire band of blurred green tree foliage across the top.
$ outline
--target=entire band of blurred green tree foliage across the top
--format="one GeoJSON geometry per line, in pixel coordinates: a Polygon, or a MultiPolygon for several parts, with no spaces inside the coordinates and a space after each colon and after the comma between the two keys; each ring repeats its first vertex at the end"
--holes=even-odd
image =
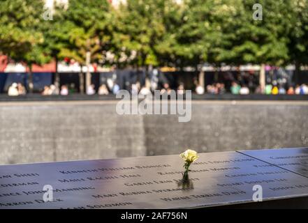
{"type": "Polygon", "coordinates": [[[0,1],[0,52],[15,61],[69,57],[119,66],[308,62],[308,0],[70,0],[43,20],[43,0],[0,1]],[[110,59],[108,54],[113,54],[110,59]]]}

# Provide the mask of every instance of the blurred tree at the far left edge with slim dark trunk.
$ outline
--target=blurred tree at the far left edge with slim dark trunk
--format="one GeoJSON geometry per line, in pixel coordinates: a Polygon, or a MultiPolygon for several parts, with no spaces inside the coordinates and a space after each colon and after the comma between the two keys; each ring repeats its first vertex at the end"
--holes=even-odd
{"type": "Polygon", "coordinates": [[[29,91],[33,91],[32,65],[50,61],[43,47],[43,1],[0,1],[0,52],[29,67],[29,91]]]}

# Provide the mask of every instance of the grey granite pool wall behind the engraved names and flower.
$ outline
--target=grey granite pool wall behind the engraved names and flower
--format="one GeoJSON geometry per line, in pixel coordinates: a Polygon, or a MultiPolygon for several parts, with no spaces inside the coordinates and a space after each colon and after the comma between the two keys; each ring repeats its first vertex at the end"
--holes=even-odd
{"type": "Polygon", "coordinates": [[[308,102],[198,101],[192,117],[126,115],[116,101],[0,103],[0,164],[308,146],[308,102]]]}

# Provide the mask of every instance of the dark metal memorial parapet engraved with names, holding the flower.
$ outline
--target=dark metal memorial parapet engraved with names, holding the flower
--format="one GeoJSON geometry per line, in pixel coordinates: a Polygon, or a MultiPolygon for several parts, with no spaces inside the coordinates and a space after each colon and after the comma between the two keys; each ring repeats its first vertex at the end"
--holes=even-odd
{"type": "MultiPolygon", "coordinates": [[[[307,151],[292,149],[288,155],[307,151]]],[[[0,166],[0,208],[224,206],[253,202],[254,185],[263,187],[263,201],[308,196],[306,176],[242,153],[200,154],[189,182],[182,182],[182,165],[178,155],[165,155],[0,166]],[[44,185],[52,185],[54,202],[43,202],[44,185]]]]}

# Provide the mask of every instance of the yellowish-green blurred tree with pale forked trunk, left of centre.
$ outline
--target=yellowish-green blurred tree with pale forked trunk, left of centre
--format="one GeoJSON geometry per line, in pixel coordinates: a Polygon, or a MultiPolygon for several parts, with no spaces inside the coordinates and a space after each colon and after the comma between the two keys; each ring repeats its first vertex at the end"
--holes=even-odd
{"type": "MultiPolygon", "coordinates": [[[[57,38],[55,52],[59,59],[68,57],[80,66],[80,90],[83,89],[82,66],[89,68],[91,62],[100,62],[103,51],[110,49],[112,25],[110,3],[107,0],[70,0],[67,10],[58,16],[61,23],[54,26],[51,36],[57,38]]],[[[89,69],[86,87],[91,84],[89,69]]]]}

